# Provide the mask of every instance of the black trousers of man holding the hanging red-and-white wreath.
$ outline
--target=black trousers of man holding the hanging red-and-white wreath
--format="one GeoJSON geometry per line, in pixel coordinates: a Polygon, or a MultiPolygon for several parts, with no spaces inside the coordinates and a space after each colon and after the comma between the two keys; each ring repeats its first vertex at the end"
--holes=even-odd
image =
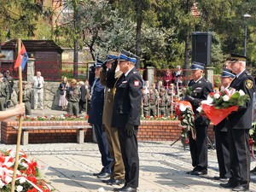
{"type": "Polygon", "coordinates": [[[207,148],[208,125],[195,125],[196,139],[189,134],[189,149],[192,158],[192,166],[200,170],[206,169],[208,165],[207,148]]]}

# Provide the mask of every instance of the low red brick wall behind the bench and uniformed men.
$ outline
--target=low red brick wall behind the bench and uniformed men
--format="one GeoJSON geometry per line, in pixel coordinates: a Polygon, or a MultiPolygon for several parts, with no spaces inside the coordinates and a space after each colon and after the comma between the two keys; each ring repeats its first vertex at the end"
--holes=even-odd
{"type": "MultiPolygon", "coordinates": [[[[137,134],[138,141],[175,141],[181,136],[179,121],[167,120],[143,120],[137,134]]],[[[87,121],[25,121],[23,126],[67,126],[67,125],[89,125],[87,121]]],[[[1,143],[15,144],[17,132],[13,126],[18,126],[14,120],[4,120],[1,123],[1,143]]],[[[214,133],[211,124],[208,135],[212,142],[214,133]]],[[[29,131],[28,143],[76,143],[76,129],[35,129],[29,131]]],[[[84,130],[84,142],[92,142],[92,129],[84,130]]]]}

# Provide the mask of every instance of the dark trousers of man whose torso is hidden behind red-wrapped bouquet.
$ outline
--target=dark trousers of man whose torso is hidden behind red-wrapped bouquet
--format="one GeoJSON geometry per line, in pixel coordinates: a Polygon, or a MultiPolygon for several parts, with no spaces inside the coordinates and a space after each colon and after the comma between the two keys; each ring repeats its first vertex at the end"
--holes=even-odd
{"type": "Polygon", "coordinates": [[[216,143],[219,177],[231,177],[228,132],[215,131],[215,143],[216,143]]]}

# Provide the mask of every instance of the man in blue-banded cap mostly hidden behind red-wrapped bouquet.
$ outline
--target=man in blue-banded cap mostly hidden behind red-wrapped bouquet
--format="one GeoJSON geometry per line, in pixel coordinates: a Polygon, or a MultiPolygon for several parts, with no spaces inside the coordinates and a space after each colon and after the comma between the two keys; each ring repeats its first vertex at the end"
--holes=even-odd
{"type": "MultiPolygon", "coordinates": [[[[220,90],[229,89],[230,83],[236,77],[234,73],[228,68],[224,68],[221,74],[220,90]]],[[[230,175],[230,148],[227,136],[227,126],[225,125],[227,119],[223,119],[218,125],[213,127],[215,131],[216,153],[218,159],[218,177],[213,177],[215,180],[225,181],[231,177],[230,175]]]]}

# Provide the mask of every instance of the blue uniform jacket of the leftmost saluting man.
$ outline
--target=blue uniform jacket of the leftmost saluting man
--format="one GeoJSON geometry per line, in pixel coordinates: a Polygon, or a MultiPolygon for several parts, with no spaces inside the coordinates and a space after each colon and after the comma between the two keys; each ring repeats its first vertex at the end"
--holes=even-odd
{"type": "Polygon", "coordinates": [[[94,125],[102,125],[102,113],[104,105],[104,89],[100,79],[96,79],[96,84],[92,88],[93,93],[90,99],[90,113],[88,122],[94,125]]]}

